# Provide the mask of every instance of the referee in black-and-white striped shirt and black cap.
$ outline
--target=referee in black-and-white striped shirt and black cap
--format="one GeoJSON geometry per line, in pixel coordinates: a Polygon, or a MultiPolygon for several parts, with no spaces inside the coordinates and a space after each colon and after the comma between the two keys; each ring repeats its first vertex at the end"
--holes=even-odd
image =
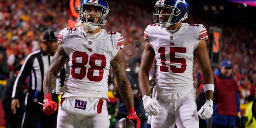
{"type": "MultiPolygon", "coordinates": [[[[26,109],[22,119],[22,128],[37,128],[38,125],[40,125],[41,128],[56,128],[58,112],[56,111],[54,114],[48,116],[42,112],[43,106],[38,104],[38,102],[43,103],[44,100],[42,84],[44,75],[58,48],[57,33],[53,30],[46,30],[42,42],[42,48],[40,50],[32,52],[26,57],[14,82],[11,109],[12,112],[16,114],[16,107],[20,107],[18,96],[20,90],[22,90],[22,84],[28,77],[28,93],[26,94],[26,109]]],[[[64,84],[63,82],[66,78],[64,68],[62,68],[58,76],[55,89],[52,92],[52,99],[57,103],[58,94],[55,93],[59,90],[60,86],[62,87],[64,84]]]]}

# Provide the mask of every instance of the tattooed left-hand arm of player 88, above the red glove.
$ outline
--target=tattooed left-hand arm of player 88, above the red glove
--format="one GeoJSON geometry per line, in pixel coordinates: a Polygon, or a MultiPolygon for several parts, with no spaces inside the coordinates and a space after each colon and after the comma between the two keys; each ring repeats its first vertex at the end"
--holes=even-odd
{"type": "Polygon", "coordinates": [[[60,72],[62,67],[64,66],[68,55],[64,51],[62,45],[58,46],[58,50],[56,54],[52,58],[52,62],[44,76],[43,88],[44,94],[52,93],[56,85],[56,77],[57,74],[60,72]]]}

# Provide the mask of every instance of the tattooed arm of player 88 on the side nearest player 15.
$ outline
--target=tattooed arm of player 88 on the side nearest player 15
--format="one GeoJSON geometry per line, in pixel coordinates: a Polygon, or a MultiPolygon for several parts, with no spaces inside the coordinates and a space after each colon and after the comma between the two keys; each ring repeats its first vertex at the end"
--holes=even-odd
{"type": "Polygon", "coordinates": [[[118,91],[126,107],[133,106],[133,94],[130,82],[126,77],[125,65],[123,62],[122,51],[119,50],[114,60],[111,61],[114,76],[116,78],[118,91]]]}

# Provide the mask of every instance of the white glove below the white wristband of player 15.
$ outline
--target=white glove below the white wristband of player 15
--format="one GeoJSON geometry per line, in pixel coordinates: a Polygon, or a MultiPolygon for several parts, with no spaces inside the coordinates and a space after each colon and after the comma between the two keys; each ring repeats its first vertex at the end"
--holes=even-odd
{"type": "Polygon", "coordinates": [[[201,107],[201,109],[198,111],[198,115],[203,119],[206,120],[208,118],[212,117],[213,108],[212,108],[213,101],[206,100],[205,104],[201,107]]]}

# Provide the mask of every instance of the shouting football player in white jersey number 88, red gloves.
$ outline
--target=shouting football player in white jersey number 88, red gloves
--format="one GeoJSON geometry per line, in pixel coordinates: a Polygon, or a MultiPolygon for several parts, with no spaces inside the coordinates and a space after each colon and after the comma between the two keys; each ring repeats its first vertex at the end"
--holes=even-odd
{"type": "Polygon", "coordinates": [[[113,68],[122,100],[128,108],[128,119],[140,120],[134,111],[133,93],[126,78],[122,57],[123,36],[101,29],[109,12],[106,0],[82,0],[78,6],[77,28],[64,28],[58,34],[57,53],[45,75],[43,112],[52,114],[57,103],[52,101],[56,74],[67,64],[57,128],[109,128],[108,74],[113,68]]]}

